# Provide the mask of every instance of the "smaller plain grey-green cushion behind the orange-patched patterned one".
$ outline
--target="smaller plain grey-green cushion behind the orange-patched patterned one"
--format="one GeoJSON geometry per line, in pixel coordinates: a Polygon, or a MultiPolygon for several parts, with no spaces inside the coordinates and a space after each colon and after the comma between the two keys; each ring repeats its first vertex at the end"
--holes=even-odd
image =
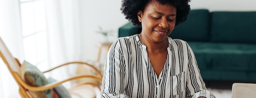
{"type": "MultiPolygon", "coordinates": [[[[53,83],[53,82],[56,82],[56,80],[49,77],[48,82],[53,83]]],[[[58,86],[54,87],[54,90],[56,90],[56,93],[58,94],[58,96],[60,98],[71,98],[70,93],[63,85],[58,85],[58,86]]]]}

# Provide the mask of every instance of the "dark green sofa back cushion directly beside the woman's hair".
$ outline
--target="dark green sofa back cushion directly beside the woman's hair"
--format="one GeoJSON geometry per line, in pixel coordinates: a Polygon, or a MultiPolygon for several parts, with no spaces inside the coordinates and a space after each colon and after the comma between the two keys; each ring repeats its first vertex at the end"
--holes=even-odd
{"type": "Polygon", "coordinates": [[[206,9],[191,10],[187,20],[178,24],[169,36],[185,41],[209,41],[209,16],[206,9]]]}

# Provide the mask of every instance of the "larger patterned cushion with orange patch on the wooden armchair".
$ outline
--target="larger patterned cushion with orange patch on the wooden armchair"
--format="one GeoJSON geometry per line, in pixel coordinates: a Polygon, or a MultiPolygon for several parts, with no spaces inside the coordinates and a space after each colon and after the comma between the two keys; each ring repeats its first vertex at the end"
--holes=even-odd
{"type": "MultiPolygon", "coordinates": [[[[26,61],[24,61],[21,66],[21,75],[23,80],[31,86],[40,87],[49,84],[47,78],[44,76],[44,73],[26,61]]],[[[29,91],[29,93],[35,98],[58,98],[58,95],[53,89],[44,91],[29,91]]]]}

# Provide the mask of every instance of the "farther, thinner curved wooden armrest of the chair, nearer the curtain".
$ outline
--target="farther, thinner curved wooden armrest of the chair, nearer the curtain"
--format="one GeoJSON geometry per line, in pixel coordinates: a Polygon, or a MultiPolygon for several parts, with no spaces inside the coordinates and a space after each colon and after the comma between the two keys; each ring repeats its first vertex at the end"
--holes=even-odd
{"type": "Polygon", "coordinates": [[[51,68],[51,69],[49,69],[49,70],[47,70],[47,71],[43,71],[43,73],[47,73],[47,72],[52,71],[52,70],[54,70],[54,69],[56,69],[56,68],[59,68],[59,67],[65,66],[65,65],[69,65],[69,64],[75,64],[75,63],[88,65],[89,67],[93,68],[101,77],[103,77],[102,73],[101,73],[97,68],[95,68],[93,65],[91,65],[91,64],[89,64],[89,63],[86,63],[86,62],[78,62],[78,61],[75,61],[75,62],[68,62],[68,63],[64,63],[64,64],[61,64],[61,65],[58,65],[58,66],[56,66],[55,68],[51,68]]]}

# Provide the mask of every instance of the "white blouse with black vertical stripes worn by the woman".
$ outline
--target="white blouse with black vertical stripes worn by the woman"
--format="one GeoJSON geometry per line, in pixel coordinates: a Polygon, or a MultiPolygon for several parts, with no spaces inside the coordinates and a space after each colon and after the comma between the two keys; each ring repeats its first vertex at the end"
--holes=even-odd
{"type": "Polygon", "coordinates": [[[108,52],[102,98],[215,98],[205,87],[194,53],[168,37],[167,59],[159,77],[138,35],[118,38],[108,52]]]}

